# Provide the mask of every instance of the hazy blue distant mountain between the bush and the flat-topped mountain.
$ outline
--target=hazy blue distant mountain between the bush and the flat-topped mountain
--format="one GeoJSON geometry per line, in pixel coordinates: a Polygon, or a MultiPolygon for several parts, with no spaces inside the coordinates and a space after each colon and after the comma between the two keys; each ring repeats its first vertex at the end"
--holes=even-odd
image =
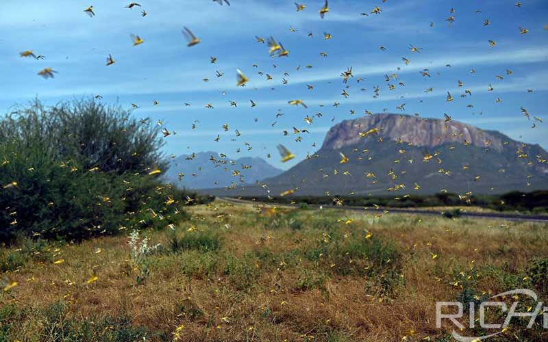
{"type": "Polygon", "coordinates": [[[234,160],[210,151],[173,159],[164,177],[177,187],[204,189],[227,187],[233,182],[255,183],[282,172],[260,157],[234,160]]]}

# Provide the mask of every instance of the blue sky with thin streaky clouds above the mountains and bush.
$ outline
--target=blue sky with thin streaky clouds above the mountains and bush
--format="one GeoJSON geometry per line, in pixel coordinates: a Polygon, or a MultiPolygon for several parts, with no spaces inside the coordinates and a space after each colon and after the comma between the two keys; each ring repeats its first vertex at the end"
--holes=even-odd
{"type": "Polygon", "coordinates": [[[285,0],[232,0],[231,6],[211,0],[142,0],[138,1],[142,7],[132,10],[124,8],[128,3],[3,0],[0,113],[34,97],[53,105],[101,94],[103,103],[128,109],[136,103],[140,108],[134,116],[162,120],[164,127],[177,132],[166,138],[168,155],[214,150],[232,158],[266,159],[271,153],[269,162],[279,168],[289,168],[314,153],[336,122],[363,116],[365,109],[400,112],[396,106],[402,103],[406,114],[443,118],[447,113],[453,120],[548,148],[548,122],[537,122],[532,129],[533,119],[528,121],[520,111],[525,107],[532,116],[548,120],[548,1],[523,0],[517,8],[514,0],[330,0],[323,20],[318,14],[323,0],[303,0],[306,9],[301,12],[294,1],[285,0]],[[83,12],[90,5],[96,13],[93,18],[83,12]],[[381,14],[360,15],[377,5],[381,14]],[[142,17],[142,10],[148,15],[142,17]],[[445,21],[449,16],[455,16],[451,25],[445,21]],[[486,19],[490,25],[484,27],[486,19]],[[186,47],[184,26],[201,38],[200,44],[186,47]],[[520,34],[519,27],[529,33],[520,34]],[[325,40],[324,32],[332,39],[325,40]],[[134,47],[130,34],[145,42],[134,47]],[[265,40],[273,36],[290,51],[289,56],[270,57],[268,46],[256,42],[255,36],[265,40]],[[497,45],[490,47],[488,40],[497,45]],[[410,51],[410,44],[421,52],[410,51]],[[381,45],[387,50],[381,51],[381,45]],[[46,59],[19,57],[29,49],[46,59]],[[109,53],[116,63],[105,66],[109,53]],[[211,56],[217,57],[216,64],[210,63],[211,56]],[[404,64],[402,57],[410,64],[404,64]],[[346,86],[340,73],[350,66],[354,77],[345,98],[340,95],[346,86]],[[54,79],[36,75],[45,67],[58,71],[54,79]],[[236,68],[249,77],[247,87],[236,87],[236,68]],[[421,76],[424,68],[432,77],[421,76]],[[471,73],[472,68],[476,73],[471,73]],[[216,70],[223,77],[216,77],[216,70]],[[259,71],[273,80],[266,81],[259,71]],[[393,73],[399,80],[390,81],[396,88],[388,90],[384,75],[393,73]],[[357,83],[358,77],[363,81],[357,83]],[[458,80],[464,87],[458,87],[458,80]],[[405,86],[399,86],[400,81],[405,86]],[[308,90],[307,84],[314,90],[308,90]],[[373,98],[375,86],[381,89],[378,98],[373,98]],[[427,88],[433,92],[426,94],[427,88]],[[461,98],[464,89],[472,96],[461,98]],[[454,98],[450,103],[445,101],[448,91],[454,98]],[[296,98],[308,109],[288,105],[296,98]],[[496,103],[496,98],[501,102],[496,103]],[[250,99],[256,107],[251,108],[250,99]],[[231,107],[229,101],[236,101],[238,107],[231,107]],[[333,107],[334,102],[340,105],[333,107]],[[208,103],[214,109],[206,109],[208,103]],[[351,109],[356,114],[351,115],[351,109]],[[314,116],[319,112],[321,118],[314,116]],[[277,113],[284,115],[276,118],[277,113]],[[314,116],[312,124],[303,120],[307,115],[314,116]],[[197,129],[192,130],[195,120],[197,129]],[[225,123],[227,132],[222,128],[225,123]],[[301,134],[302,141],[295,142],[292,127],[308,129],[310,134],[301,134]],[[242,135],[236,137],[234,129],[242,135]],[[290,134],[284,136],[284,130],[290,134]],[[217,134],[219,142],[214,141],[217,134]],[[297,158],[279,162],[275,149],[279,143],[297,158]]]}

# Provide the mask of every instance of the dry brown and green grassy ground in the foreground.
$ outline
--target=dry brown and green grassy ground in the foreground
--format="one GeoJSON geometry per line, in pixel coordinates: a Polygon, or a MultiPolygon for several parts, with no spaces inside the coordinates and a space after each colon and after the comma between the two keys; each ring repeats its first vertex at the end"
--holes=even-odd
{"type": "MultiPolygon", "coordinates": [[[[17,285],[0,294],[0,341],[450,341],[436,301],[528,288],[548,302],[545,224],[188,210],[175,230],[141,232],[161,244],[141,263],[124,235],[1,248],[3,287],[17,285]]],[[[525,325],[497,338],[548,338],[525,325]]]]}

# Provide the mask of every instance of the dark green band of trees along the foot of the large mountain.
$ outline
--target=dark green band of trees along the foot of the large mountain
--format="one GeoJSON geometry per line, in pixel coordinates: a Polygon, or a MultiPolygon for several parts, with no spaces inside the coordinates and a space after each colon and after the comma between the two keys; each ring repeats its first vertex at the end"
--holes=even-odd
{"type": "Polygon", "coordinates": [[[301,205],[334,205],[334,198],[343,202],[343,205],[392,208],[425,208],[425,207],[460,207],[471,205],[497,211],[525,211],[531,213],[548,213],[548,190],[536,192],[508,192],[503,195],[473,195],[465,198],[458,194],[435,194],[429,196],[408,196],[394,198],[362,197],[362,196],[289,196],[289,197],[241,197],[242,200],[256,200],[259,202],[275,202],[281,204],[298,203],[301,205]]]}

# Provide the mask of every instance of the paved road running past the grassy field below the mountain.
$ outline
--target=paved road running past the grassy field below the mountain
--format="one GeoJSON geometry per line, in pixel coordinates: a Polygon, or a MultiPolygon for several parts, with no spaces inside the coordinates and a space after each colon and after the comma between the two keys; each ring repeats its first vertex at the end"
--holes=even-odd
{"type": "MultiPolygon", "coordinates": [[[[251,204],[251,205],[276,205],[273,202],[253,202],[251,200],[240,200],[238,198],[232,197],[218,197],[219,200],[231,203],[240,203],[240,204],[251,204]]],[[[280,205],[282,207],[298,207],[299,205],[280,205]]],[[[320,205],[308,205],[309,208],[319,208],[320,205]]],[[[334,205],[322,205],[323,208],[336,208],[336,209],[345,209],[351,211],[362,211],[364,212],[364,207],[353,207],[353,206],[343,206],[336,207],[334,205]]],[[[370,213],[384,213],[385,209],[375,209],[368,207],[366,209],[370,213]]],[[[440,215],[440,211],[436,210],[423,210],[423,209],[401,209],[401,208],[388,208],[388,213],[408,213],[408,214],[421,214],[421,215],[440,215]]],[[[514,213],[471,213],[464,211],[460,213],[461,218],[481,218],[481,219],[491,219],[491,220],[506,220],[506,221],[527,221],[527,222],[541,222],[548,223],[548,215],[520,215],[514,213]]]]}

